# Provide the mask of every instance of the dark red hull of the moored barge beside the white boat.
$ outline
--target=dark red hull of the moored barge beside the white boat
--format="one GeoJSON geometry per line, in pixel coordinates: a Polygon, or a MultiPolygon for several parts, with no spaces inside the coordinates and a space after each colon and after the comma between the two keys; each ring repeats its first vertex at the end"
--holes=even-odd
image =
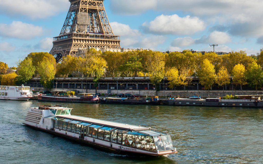
{"type": "Polygon", "coordinates": [[[98,97],[56,97],[38,96],[38,101],[71,102],[71,103],[98,103],[98,97]]]}

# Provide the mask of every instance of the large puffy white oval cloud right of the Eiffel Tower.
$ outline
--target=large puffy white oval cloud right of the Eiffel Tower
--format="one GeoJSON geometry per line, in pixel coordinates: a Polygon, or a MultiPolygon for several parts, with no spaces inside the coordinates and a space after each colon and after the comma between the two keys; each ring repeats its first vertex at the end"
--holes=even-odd
{"type": "Polygon", "coordinates": [[[153,21],[143,23],[146,32],[154,34],[189,35],[205,29],[205,23],[197,17],[179,17],[178,15],[160,15],[153,21]]]}

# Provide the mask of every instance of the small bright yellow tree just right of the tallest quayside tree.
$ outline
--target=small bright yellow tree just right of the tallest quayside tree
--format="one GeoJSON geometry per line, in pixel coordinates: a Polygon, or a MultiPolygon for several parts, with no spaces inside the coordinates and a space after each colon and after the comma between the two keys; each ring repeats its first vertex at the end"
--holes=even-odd
{"type": "Polygon", "coordinates": [[[174,95],[175,95],[175,87],[181,85],[181,78],[179,76],[179,71],[177,68],[173,67],[169,69],[168,72],[168,84],[169,88],[174,88],[174,95]]]}

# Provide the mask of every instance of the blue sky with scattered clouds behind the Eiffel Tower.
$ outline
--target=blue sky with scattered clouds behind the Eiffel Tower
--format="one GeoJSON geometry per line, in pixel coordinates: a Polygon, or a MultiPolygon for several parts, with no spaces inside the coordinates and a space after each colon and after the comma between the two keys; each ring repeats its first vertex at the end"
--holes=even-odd
{"type": "MultiPolygon", "coordinates": [[[[68,0],[0,0],[0,61],[16,66],[30,52],[49,52],[68,13],[68,0]],[[15,5],[14,5],[15,4],[15,5]]],[[[105,0],[121,47],[157,51],[263,47],[262,0],[105,0]]]]}

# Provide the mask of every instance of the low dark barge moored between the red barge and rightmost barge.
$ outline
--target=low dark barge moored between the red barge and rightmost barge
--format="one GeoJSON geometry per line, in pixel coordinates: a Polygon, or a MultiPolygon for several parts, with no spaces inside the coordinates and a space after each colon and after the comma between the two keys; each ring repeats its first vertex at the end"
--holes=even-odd
{"type": "Polygon", "coordinates": [[[158,105],[160,104],[158,96],[149,98],[128,97],[128,98],[115,98],[106,97],[101,98],[101,103],[104,104],[143,104],[143,105],[158,105]]]}

